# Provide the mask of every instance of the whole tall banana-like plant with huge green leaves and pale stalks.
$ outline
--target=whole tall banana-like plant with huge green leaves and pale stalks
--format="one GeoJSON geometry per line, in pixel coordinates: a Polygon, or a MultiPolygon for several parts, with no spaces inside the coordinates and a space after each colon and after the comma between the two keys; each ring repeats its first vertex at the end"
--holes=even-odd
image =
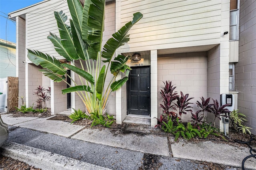
{"type": "Polygon", "coordinates": [[[108,96],[118,90],[127,80],[131,68],[126,65],[130,58],[118,55],[112,61],[115,51],[129,41],[128,31],[142,18],[142,14],[133,14],[133,20],[126,23],[114,33],[103,46],[102,36],[104,31],[105,0],[85,0],[84,6],[79,0],[68,0],[68,8],[72,19],[70,26],[66,24],[67,16],[62,12],[54,12],[60,37],[50,33],[48,39],[53,43],[56,52],[71,64],[64,64],[55,57],[40,51],[28,49],[28,58],[36,65],[42,66],[43,74],[54,82],[66,81],[68,68],[78,74],[80,84],[70,77],[70,88],[62,90],[63,94],[76,92],[86,106],[86,114],[105,115],[108,96]],[[105,64],[102,64],[104,62],[105,64]],[[110,69],[110,71],[109,71],[110,69]],[[112,80],[104,90],[108,72],[112,74],[112,80]],[[120,72],[126,76],[120,80],[116,77],[120,72]]]}

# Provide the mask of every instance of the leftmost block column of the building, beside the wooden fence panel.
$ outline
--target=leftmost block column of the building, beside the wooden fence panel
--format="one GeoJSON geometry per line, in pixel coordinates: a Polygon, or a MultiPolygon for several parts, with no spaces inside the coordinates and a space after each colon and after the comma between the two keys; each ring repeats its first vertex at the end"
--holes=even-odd
{"type": "MultiPolygon", "coordinates": [[[[19,78],[19,97],[26,96],[25,67],[26,67],[26,20],[16,17],[16,76],[19,78]]],[[[27,98],[26,98],[27,99],[27,98]]],[[[26,104],[28,100],[26,100],[26,104]]],[[[18,106],[22,103],[19,100],[18,106]]]]}

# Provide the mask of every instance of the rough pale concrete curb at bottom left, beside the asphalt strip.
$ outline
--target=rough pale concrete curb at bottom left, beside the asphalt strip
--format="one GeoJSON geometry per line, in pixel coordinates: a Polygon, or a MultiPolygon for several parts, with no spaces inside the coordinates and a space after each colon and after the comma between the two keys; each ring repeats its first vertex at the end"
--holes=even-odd
{"type": "Polygon", "coordinates": [[[68,158],[42,149],[7,142],[2,147],[2,155],[26,162],[42,170],[110,170],[101,166],[68,158]]]}

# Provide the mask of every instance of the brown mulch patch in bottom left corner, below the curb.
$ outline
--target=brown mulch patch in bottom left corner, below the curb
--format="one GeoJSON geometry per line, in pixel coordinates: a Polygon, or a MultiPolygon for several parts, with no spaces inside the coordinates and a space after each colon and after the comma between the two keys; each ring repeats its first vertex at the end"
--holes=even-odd
{"type": "Polygon", "coordinates": [[[41,170],[34,168],[25,162],[15,160],[6,156],[0,156],[0,169],[1,170],[41,170]]]}

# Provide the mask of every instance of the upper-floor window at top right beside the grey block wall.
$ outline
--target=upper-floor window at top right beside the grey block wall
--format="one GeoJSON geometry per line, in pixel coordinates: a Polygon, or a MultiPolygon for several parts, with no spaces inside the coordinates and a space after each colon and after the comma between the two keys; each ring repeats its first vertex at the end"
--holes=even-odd
{"type": "Polygon", "coordinates": [[[229,23],[229,39],[238,40],[238,20],[239,20],[239,10],[237,0],[230,0],[230,23],[229,23]]]}

